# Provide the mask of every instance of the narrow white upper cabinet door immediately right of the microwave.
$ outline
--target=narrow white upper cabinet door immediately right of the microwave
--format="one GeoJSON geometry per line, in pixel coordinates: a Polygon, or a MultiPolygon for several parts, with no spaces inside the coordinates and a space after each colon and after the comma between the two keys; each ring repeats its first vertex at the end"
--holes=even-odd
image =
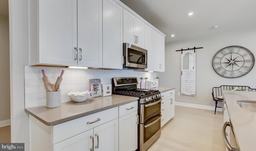
{"type": "Polygon", "coordinates": [[[154,71],[154,30],[147,25],[145,25],[145,49],[148,50],[148,68],[145,71],[154,71]]]}

